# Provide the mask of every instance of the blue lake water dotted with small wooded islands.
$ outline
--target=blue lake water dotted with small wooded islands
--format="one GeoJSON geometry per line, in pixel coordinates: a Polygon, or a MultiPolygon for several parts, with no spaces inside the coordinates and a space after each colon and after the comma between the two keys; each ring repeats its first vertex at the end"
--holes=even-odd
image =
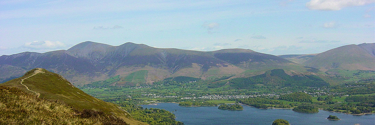
{"type": "Polygon", "coordinates": [[[319,113],[300,113],[287,109],[258,109],[245,105],[240,111],[220,110],[217,107],[180,107],[175,103],[141,106],[174,111],[176,120],[185,125],[271,125],[275,119],[288,120],[291,125],[375,125],[375,114],[354,116],[323,110],[319,110],[319,113]],[[329,115],[342,120],[325,119],[329,115]]]}

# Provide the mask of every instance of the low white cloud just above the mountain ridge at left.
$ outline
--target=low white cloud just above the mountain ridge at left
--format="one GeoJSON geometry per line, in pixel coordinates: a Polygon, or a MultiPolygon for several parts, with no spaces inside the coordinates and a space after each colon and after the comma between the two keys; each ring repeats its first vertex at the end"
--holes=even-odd
{"type": "Polygon", "coordinates": [[[62,42],[58,41],[33,41],[33,42],[26,42],[23,47],[30,48],[33,50],[48,50],[48,49],[58,49],[66,47],[66,45],[62,42]]]}

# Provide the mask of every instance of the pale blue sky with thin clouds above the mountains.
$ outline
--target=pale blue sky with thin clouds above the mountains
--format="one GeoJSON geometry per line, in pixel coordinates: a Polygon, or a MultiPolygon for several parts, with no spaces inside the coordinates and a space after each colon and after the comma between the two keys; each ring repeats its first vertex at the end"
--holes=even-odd
{"type": "Polygon", "coordinates": [[[0,0],[0,55],[84,41],[321,53],[375,41],[374,0],[0,0]]]}

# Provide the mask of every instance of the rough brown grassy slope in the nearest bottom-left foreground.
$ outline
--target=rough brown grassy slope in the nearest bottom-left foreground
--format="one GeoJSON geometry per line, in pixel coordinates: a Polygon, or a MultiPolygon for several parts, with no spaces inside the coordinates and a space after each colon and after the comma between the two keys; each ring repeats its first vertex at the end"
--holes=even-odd
{"type": "Polygon", "coordinates": [[[129,125],[102,111],[77,110],[6,86],[0,86],[0,114],[1,125],[129,125]]]}

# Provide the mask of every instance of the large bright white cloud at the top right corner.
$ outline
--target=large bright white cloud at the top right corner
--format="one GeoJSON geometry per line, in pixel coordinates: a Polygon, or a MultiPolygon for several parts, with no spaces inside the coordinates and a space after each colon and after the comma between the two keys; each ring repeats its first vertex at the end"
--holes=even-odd
{"type": "Polygon", "coordinates": [[[374,0],[311,0],[306,3],[309,9],[338,11],[349,6],[362,6],[374,3],[374,0]]]}

